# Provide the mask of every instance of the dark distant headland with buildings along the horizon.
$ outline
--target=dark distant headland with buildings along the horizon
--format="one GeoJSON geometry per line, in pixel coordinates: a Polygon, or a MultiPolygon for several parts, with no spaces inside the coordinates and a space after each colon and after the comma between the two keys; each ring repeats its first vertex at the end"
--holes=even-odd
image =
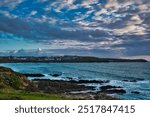
{"type": "Polygon", "coordinates": [[[145,59],[119,59],[119,58],[98,58],[92,56],[3,56],[0,57],[0,63],[25,63],[25,62],[148,62],[145,59]]]}

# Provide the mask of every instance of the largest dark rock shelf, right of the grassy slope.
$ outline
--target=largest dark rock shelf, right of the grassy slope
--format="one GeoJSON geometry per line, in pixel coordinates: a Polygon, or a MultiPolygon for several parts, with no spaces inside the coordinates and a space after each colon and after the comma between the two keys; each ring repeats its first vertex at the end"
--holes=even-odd
{"type": "Polygon", "coordinates": [[[63,80],[34,79],[37,89],[47,93],[69,93],[72,91],[93,90],[92,86],[79,85],[77,82],[63,80]]]}

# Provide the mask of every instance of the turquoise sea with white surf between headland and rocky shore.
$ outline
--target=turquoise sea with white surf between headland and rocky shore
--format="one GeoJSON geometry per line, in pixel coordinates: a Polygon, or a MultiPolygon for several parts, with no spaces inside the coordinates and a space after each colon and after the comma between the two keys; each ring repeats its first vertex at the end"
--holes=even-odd
{"type": "MultiPolygon", "coordinates": [[[[117,95],[123,99],[150,99],[150,63],[6,63],[1,66],[10,67],[22,73],[42,73],[47,79],[68,80],[110,80],[104,85],[122,86],[126,94],[117,95]],[[61,72],[59,77],[48,74],[61,72]],[[122,80],[144,79],[138,82],[124,82],[122,80]],[[140,94],[132,94],[139,91],[140,94]]],[[[29,79],[31,79],[29,77],[29,79]]],[[[85,84],[95,86],[99,90],[100,84],[85,84]]]]}

